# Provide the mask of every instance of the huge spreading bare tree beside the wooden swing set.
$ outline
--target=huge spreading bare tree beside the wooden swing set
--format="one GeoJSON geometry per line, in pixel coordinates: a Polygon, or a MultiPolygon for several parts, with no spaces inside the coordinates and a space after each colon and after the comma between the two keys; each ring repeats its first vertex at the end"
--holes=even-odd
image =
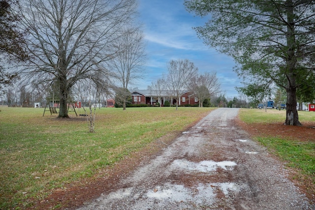
{"type": "Polygon", "coordinates": [[[31,57],[22,73],[58,81],[59,118],[68,118],[67,100],[77,81],[101,78],[100,64],[115,57],[112,43],[135,9],[135,0],[20,1],[31,57]]]}

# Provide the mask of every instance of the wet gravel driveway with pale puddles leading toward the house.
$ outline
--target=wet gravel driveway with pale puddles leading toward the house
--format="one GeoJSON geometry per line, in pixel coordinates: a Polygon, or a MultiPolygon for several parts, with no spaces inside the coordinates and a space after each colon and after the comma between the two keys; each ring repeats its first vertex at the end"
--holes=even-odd
{"type": "Polygon", "coordinates": [[[314,209],[282,164],[233,124],[237,113],[211,112],[80,210],[314,209]]]}

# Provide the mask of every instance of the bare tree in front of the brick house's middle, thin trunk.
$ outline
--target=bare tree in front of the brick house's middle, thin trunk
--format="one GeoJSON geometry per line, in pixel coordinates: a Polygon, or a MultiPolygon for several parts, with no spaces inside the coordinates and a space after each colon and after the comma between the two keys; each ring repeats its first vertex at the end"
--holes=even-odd
{"type": "Polygon", "coordinates": [[[178,109],[178,102],[180,96],[185,90],[188,90],[188,83],[197,72],[198,68],[195,67],[193,62],[188,59],[170,60],[167,63],[168,76],[166,79],[167,90],[176,98],[176,110],[178,109]]]}

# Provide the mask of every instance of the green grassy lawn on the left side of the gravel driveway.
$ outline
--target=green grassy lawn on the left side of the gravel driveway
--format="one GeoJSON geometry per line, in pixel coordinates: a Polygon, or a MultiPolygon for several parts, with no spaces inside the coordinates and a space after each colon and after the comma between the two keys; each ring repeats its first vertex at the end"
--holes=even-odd
{"type": "MultiPolygon", "coordinates": [[[[24,209],[54,188],[93,176],[159,137],[184,130],[213,108],[96,109],[95,133],[86,117],[57,119],[43,108],[0,107],[0,209],[24,209]]],[[[83,109],[78,114],[84,114],[83,109]]]]}

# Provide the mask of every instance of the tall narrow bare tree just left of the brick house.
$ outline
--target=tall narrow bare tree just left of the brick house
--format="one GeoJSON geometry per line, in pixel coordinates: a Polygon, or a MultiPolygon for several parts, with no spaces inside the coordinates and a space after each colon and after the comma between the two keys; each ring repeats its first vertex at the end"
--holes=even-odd
{"type": "MultiPolygon", "coordinates": [[[[128,90],[129,84],[143,76],[143,65],[146,61],[143,32],[138,28],[127,28],[114,44],[119,53],[111,60],[111,69],[122,90],[128,90]]],[[[128,94],[128,91],[125,92],[128,94]]],[[[124,98],[123,110],[126,110],[126,97],[124,98]]]]}

